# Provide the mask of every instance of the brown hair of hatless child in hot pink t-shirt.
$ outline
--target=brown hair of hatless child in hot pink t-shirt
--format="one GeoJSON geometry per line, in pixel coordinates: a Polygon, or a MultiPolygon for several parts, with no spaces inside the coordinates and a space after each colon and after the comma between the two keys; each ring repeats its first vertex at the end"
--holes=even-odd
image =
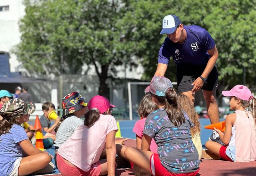
{"type": "Polygon", "coordinates": [[[146,94],[139,105],[138,114],[142,118],[146,118],[150,113],[157,110],[157,104],[152,100],[151,94],[146,94]]]}

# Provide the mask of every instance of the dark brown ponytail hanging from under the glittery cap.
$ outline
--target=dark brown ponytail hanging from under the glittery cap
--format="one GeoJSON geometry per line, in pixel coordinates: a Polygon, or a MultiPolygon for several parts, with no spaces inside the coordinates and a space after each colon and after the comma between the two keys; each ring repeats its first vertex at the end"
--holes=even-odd
{"type": "Polygon", "coordinates": [[[178,95],[173,87],[170,87],[165,92],[165,97],[153,95],[160,105],[164,106],[170,121],[176,126],[185,123],[185,116],[182,108],[178,103],[178,95]]]}

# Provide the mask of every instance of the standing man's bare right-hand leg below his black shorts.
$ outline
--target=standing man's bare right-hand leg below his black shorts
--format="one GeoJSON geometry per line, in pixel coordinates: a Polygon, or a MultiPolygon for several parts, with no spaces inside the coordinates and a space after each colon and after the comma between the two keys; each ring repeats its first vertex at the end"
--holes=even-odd
{"type": "Polygon", "coordinates": [[[215,98],[215,90],[202,90],[206,101],[207,115],[210,118],[211,124],[219,122],[219,109],[215,98]]]}

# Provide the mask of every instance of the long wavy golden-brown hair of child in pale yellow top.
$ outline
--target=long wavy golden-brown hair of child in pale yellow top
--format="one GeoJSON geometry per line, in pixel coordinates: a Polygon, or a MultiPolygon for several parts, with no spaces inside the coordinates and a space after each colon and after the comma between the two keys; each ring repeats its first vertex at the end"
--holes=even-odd
{"type": "Polygon", "coordinates": [[[194,127],[190,128],[191,129],[191,136],[194,137],[196,133],[200,133],[201,131],[201,126],[198,120],[198,115],[196,113],[196,110],[194,106],[192,105],[190,99],[183,94],[180,94],[178,96],[178,102],[180,103],[181,107],[186,111],[189,119],[191,122],[193,122],[194,127]]]}

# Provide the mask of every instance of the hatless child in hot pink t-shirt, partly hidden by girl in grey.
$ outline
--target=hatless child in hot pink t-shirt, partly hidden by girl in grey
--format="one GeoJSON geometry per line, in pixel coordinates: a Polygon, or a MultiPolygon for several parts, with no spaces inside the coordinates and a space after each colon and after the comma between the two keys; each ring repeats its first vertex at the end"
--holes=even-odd
{"type": "MultiPolygon", "coordinates": [[[[145,126],[145,121],[146,121],[146,117],[152,113],[153,111],[157,110],[158,106],[157,104],[153,101],[152,99],[152,95],[151,94],[146,94],[139,105],[138,108],[138,114],[141,117],[140,120],[138,120],[134,127],[133,127],[133,132],[136,134],[136,148],[140,149],[141,148],[141,142],[142,142],[142,136],[143,136],[143,129],[145,126]]],[[[154,139],[152,139],[151,144],[150,144],[150,151],[153,153],[157,153],[157,145],[154,141],[154,139]]],[[[133,173],[135,175],[151,175],[150,173],[146,173],[147,171],[145,171],[144,169],[138,167],[137,165],[133,165],[133,173]]]]}

